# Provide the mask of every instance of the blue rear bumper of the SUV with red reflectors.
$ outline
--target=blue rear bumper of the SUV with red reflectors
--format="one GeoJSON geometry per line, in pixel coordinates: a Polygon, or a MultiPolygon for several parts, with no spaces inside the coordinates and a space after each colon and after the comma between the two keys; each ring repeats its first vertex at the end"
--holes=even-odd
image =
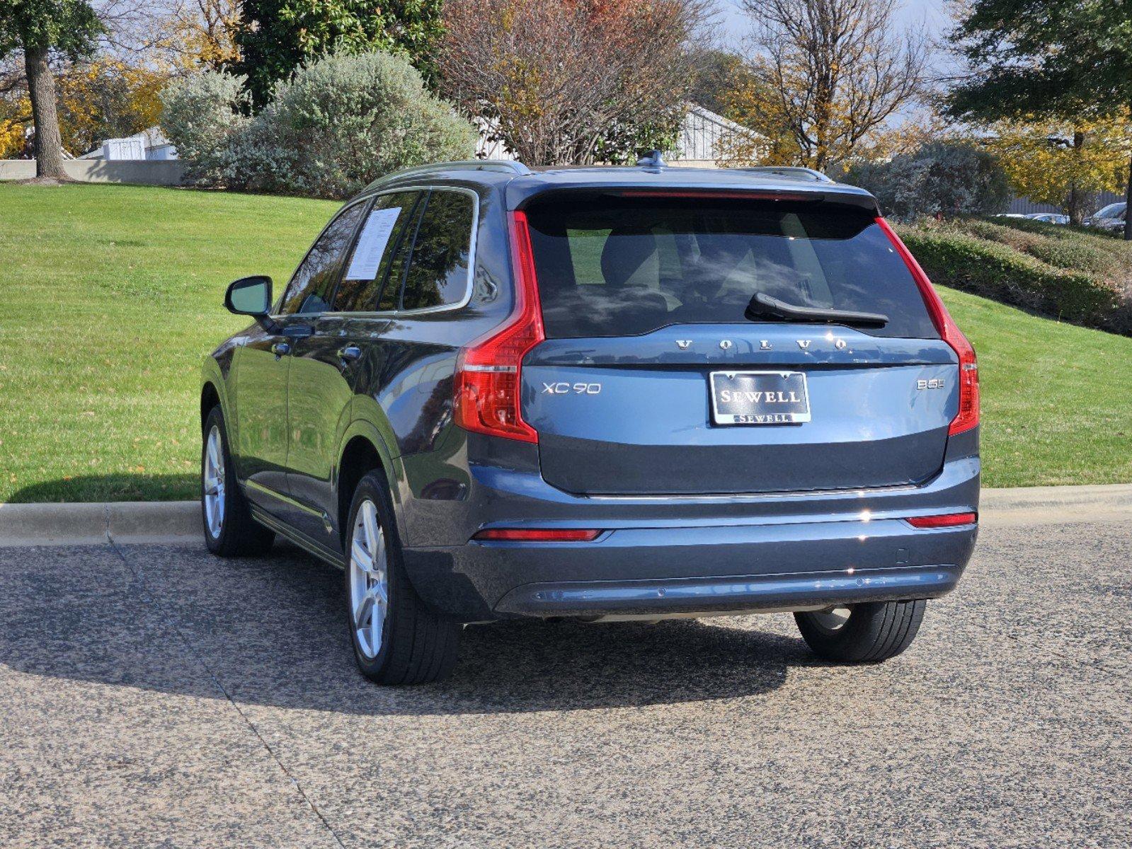
{"type": "Polygon", "coordinates": [[[623,528],[593,542],[404,549],[429,604],[463,621],[805,610],[951,591],[977,529],[898,518],[623,528]]]}

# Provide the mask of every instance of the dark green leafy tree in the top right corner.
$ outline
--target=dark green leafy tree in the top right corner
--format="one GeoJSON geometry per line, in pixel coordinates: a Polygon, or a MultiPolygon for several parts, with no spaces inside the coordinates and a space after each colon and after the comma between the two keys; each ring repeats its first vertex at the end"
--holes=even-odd
{"type": "MultiPolygon", "coordinates": [[[[1132,109],[1127,0],[971,0],[950,37],[970,68],[947,98],[957,118],[1075,122],[1132,109]]],[[[1132,155],[1125,192],[1132,205],[1132,155]]]]}

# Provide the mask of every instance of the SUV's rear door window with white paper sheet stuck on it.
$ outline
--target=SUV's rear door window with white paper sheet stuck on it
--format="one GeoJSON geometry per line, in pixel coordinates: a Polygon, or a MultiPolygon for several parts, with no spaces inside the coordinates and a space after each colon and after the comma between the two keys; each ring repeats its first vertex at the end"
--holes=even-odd
{"type": "MultiPolygon", "coordinates": [[[[336,312],[369,312],[378,309],[381,284],[389,277],[397,246],[405,240],[406,223],[413,217],[413,207],[420,196],[415,191],[381,195],[374,201],[366,222],[361,225],[358,241],[345,263],[338,292],[334,297],[336,312]]],[[[412,233],[408,234],[412,240],[412,233]]],[[[401,277],[393,284],[400,291],[401,277]]],[[[392,307],[381,309],[395,309],[392,307]]]]}

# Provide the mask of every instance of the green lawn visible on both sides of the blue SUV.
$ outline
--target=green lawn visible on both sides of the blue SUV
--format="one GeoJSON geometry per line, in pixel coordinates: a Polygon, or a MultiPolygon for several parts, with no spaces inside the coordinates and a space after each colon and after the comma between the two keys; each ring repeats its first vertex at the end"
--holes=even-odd
{"type": "MultiPolygon", "coordinates": [[[[284,281],[335,204],[0,185],[0,501],[189,498],[224,285],[284,281]]],[[[1132,338],[943,290],[979,352],[988,486],[1132,481],[1132,338]]]]}

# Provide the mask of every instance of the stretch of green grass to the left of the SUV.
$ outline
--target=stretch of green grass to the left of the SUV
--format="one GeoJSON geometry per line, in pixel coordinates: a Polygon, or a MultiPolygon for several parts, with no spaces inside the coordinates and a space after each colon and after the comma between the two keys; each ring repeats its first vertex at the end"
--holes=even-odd
{"type": "Polygon", "coordinates": [[[336,204],[0,183],[0,501],[190,498],[200,363],[336,204]]]}

